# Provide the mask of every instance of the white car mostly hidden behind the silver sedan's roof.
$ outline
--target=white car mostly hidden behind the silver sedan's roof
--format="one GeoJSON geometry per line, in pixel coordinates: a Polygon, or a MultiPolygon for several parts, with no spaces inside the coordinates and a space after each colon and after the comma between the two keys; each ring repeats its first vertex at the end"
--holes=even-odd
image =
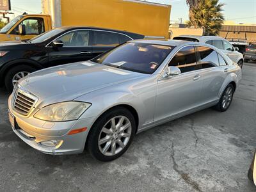
{"type": "Polygon", "coordinates": [[[237,63],[239,67],[243,67],[244,56],[239,51],[238,47],[233,47],[230,42],[225,40],[225,38],[221,38],[220,36],[193,36],[193,35],[181,35],[173,38],[174,40],[186,40],[192,42],[202,42],[205,44],[213,45],[218,49],[221,49],[227,56],[237,63]]]}

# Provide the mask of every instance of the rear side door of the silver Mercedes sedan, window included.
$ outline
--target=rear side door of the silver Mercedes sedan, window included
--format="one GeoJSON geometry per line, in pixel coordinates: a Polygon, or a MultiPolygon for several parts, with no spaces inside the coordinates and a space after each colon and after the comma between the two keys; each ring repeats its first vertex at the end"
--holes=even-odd
{"type": "Polygon", "coordinates": [[[218,100],[221,86],[227,77],[228,67],[225,60],[209,47],[196,46],[200,58],[200,74],[202,79],[201,99],[207,104],[218,100]],[[220,65],[221,63],[221,65],[220,65]]]}

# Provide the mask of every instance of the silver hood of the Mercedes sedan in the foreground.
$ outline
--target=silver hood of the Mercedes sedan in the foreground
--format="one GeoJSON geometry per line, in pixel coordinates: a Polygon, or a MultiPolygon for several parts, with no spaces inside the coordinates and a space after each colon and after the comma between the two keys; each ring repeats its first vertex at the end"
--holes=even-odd
{"type": "Polygon", "coordinates": [[[34,72],[19,84],[38,97],[38,104],[51,104],[142,76],[145,74],[83,61],[34,72]]]}

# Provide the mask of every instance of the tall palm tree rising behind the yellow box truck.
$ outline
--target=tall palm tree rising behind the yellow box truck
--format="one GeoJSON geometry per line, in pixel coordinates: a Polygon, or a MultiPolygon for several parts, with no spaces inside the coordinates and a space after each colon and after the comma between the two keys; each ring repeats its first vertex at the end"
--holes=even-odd
{"type": "Polygon", "coordinates": [[[218,35],[224,22],[222,7],[219,0],[200,0],[189,11],[188,26],[205,28],[205,35],[218,35]]]}

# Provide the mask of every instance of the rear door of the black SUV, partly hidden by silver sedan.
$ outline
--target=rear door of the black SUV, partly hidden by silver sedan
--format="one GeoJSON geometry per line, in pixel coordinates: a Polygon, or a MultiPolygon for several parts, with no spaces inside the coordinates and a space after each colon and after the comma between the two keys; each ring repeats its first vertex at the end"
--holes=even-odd
{"type": "Polygon", "coordinates": [[[98,56],[102,52],[106,52],[109,49],[113,49],[117,45],[123,44],[131,37],[122,33],[116,33],[112,31],[92,30],[93,31],[93,57],[98,56]]]}

